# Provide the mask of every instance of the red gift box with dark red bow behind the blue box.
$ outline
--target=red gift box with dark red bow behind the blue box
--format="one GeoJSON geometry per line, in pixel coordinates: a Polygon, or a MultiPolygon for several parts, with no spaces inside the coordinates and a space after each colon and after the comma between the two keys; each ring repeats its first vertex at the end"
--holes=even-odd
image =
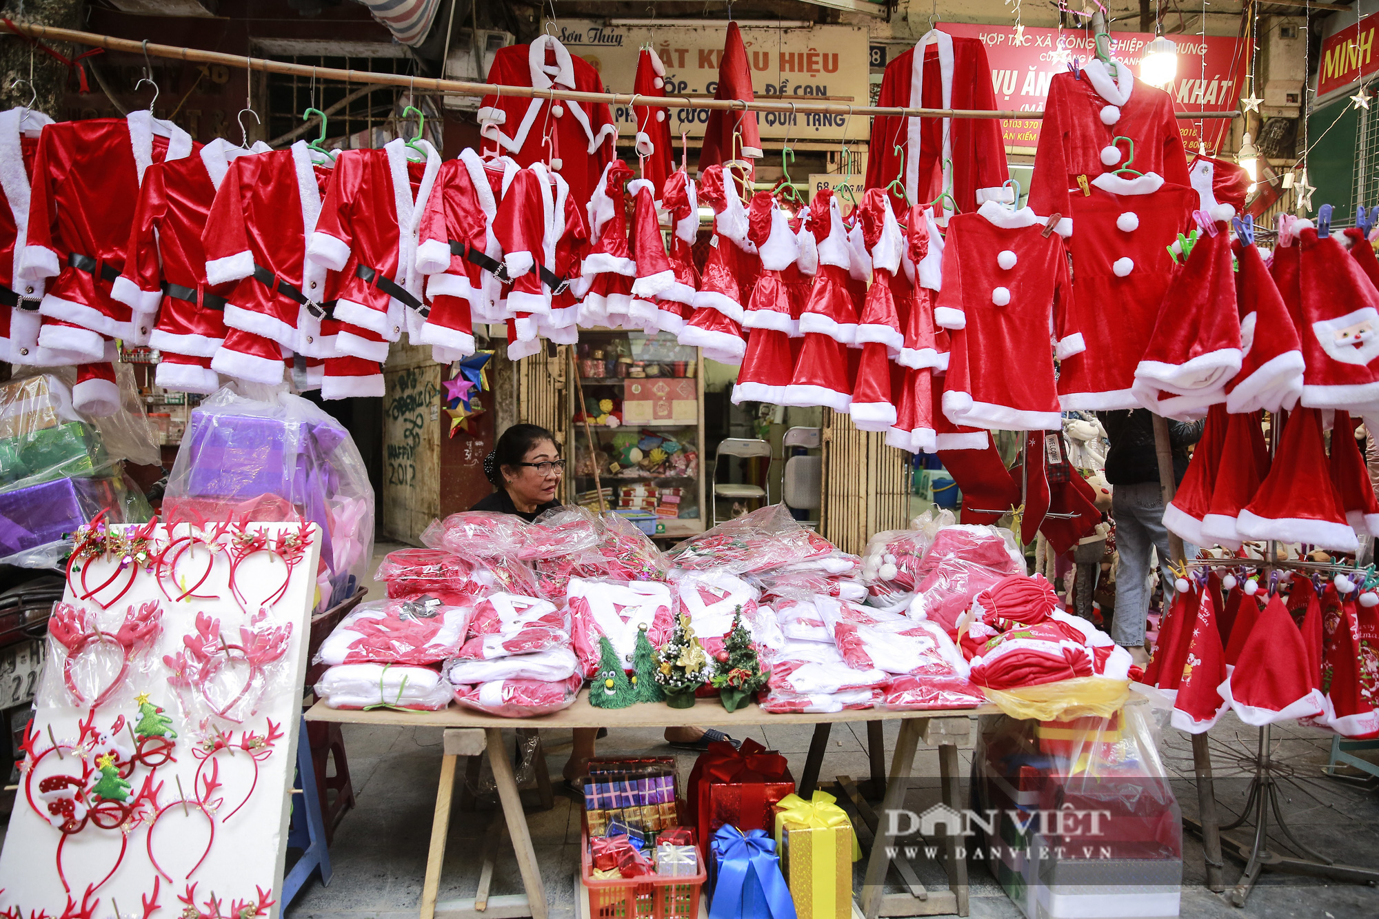
{"type": "Polygon", "coordinates": [[[752,740],[741,748],[720,741],[699,753],[690,773],[690,807],[707,847],[713,833],[727,824],[745,831],[771,829],[771,806],[794,792],[794,777],[785,756],[752,740]]]}

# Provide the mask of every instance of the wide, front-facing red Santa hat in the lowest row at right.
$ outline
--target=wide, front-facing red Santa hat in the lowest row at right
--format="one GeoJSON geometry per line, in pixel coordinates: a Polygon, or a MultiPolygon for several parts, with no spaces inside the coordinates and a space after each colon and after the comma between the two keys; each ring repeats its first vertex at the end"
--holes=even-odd
{"type": "Polygon", "coordinates": [[[1218,689],[1240,720],[1256,727],[1321,713],[1322,697],[1307,669],[1307,647],[1277,595],[1259,614],[1236,668],[1218,689]]]}

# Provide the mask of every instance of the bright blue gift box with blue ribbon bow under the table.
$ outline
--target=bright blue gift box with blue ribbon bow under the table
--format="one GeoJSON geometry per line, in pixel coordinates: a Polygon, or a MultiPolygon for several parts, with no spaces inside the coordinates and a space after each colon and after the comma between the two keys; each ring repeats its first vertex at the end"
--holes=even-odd
{"type": "Polygon", "coordinates": [[[720,827],[709,846],[709,919],[796,919],[775,840],[720,827]]]}

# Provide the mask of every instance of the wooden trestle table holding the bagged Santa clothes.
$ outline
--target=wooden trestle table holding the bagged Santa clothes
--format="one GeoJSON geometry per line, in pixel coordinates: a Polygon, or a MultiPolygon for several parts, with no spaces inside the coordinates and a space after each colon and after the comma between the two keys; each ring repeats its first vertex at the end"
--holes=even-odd
{"type": "MultiPolygon", "coordinates": [[[[426,857],[426,882],[422,886],[421,919],[434,919],[436,916],[441,919],[514,919],[520,916],[546,919],[546,887],[541,878],[541,868],[536,864],[531,833],[527,829],[527,816],[523,810],[513,764],[502,742],[502,730],[505,727],[528,730],[546,727],[607,727],[610,731],[614,731],[622,727],[713,724],[731,734],[734,729],[760,724],[815,724],[814,740],[809,742],[809,753],[798,784],[800,793],[808,795],[818,784],[819,767],[823,762],[823,753],[827,749],[830,724],[836,722],[877,722],[883,718],[898,719],[900,722],[900,734],[895,741],[885,800],[878,814],[883,820],[878,821],[876,828],[874,843],[866,867],[866,880],[862,889],[862,912],[866,915],[866,919],[876,919],[883,915],[967,915],[967,862],[956,857],[963,839],[957,835],[943,839],[943,847],[947,854],[945,865],[949,875],[947,890],[925,890],[918,883],[918,879],[914,878],[913,871],[906,871],[907,862],[896,861],[896,865],[902,865],[902,876],[906,880],[909,893],[884,894],[885,876],[892,864],[892,858],[887,856],[887,850],[895,846],[895,836],[887,832],[889,821],[884,820],[884,814],[900,810],[905,806],[906,780],[910,777],[914,752],[918,748],[920,740],[938,747],[942,800],[949,807],[961,811],[967,806],[967,802],[963,800],[960,791],[961,775],[957,745],[968,737],[971,729],[969,719],[972,716],[996,713],[997,711],[994,706],[987,705],[975,709],[920,712],[865,709],[819,715],[771,715],[756,705],[727,712],[717,700],[699,700],[694,708],[684,709],[667,705],[633,705],[630,708],[610,711],[590,705],[587,691],[582,690],[574,705],[545,718],[496,718],[454,705],[440,712],[397,712],[392,709],[359,712],[332,709],[317,702],[306,713],[306,719],[309,722],[338,722],[345,724],[445,729],[441,744],[440,787],[436,792],[436,814],[432,821],[430,850],[426,857]],[[502,803],[507,833],[512,836],[513,850],[517,854],[517,868],[521,871],[523,886],[527,889],[527,894],[488,897],[487,883],[481,878],[481,904],[474,900],[436,902],[440,890],[441,862],[445,858],[445,836],[450,831],[456,759],[459,756],[480,756],[485,752],[494,770],[494,784],[498,788],[498,799],[502,803]]],[[[872,731],[872,737],[878,740],[880,731],[872,731]]],[[[872,755],[873,758],[877,756],[876,752],[872,755]]],[[[947,824],[945,827],[947,828],[947,824]]]]}

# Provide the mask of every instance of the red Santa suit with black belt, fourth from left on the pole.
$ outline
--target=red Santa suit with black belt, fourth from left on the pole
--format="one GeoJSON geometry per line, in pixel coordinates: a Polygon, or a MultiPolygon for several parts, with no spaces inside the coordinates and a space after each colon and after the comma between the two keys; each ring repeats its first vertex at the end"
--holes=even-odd
{"type": "MultiPolygon", "coordinates": [[[[335,355],[330,335],[321,334],[325,266],[306,257],[330,177],[328,166],[312,163],[306,141],[230,164],[201,235],[207,283],[239,281],[225,306],[228,328],[273,341],[288,353],[335,355]]],[[[269,382],[274,373],[281,379],[281,366],[263,364],[256,350],[237,348],[237,338],[226,334],[212,367],[245,379],[269,382]]]]}

